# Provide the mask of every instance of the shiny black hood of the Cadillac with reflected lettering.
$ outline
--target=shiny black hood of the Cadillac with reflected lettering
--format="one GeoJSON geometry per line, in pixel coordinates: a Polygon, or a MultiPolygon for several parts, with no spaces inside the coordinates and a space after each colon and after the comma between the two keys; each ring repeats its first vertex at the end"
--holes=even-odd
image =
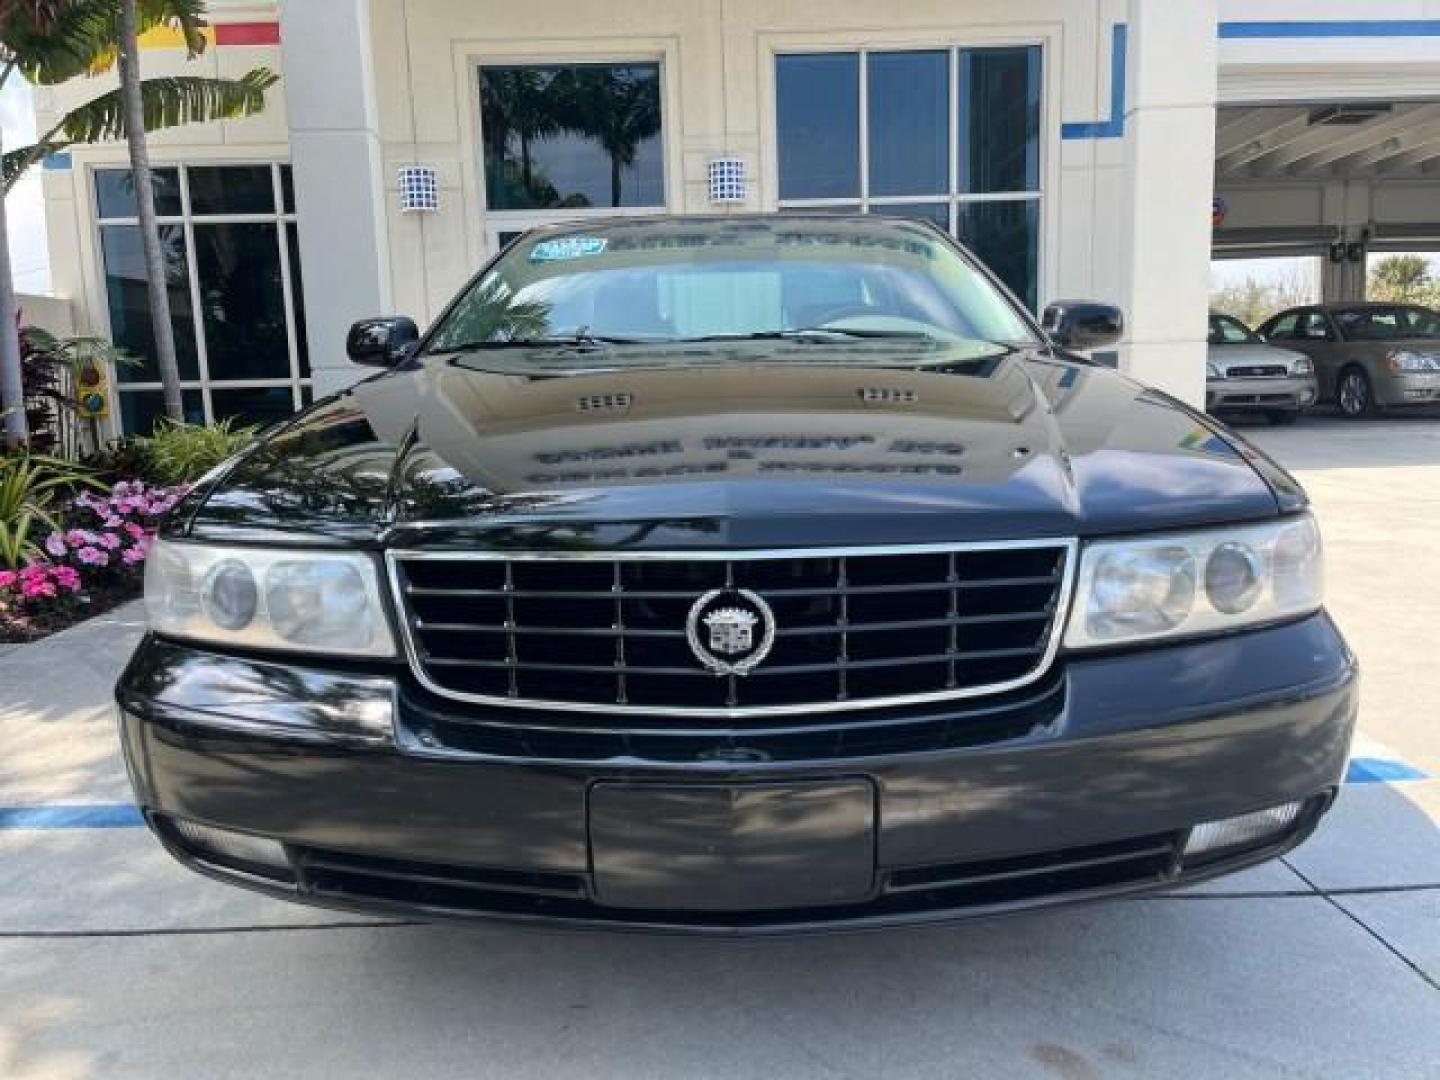
{"type": "Polygon", "coordinates": [[[200,485],[209,539],[412,547],[927,543],[1273,516],[1303,495],[1181,403],[1045,354],[775,344],[642,364],[429,357],[200,485]],[[528,372],[528,373],[527,373],[528,372]]]}

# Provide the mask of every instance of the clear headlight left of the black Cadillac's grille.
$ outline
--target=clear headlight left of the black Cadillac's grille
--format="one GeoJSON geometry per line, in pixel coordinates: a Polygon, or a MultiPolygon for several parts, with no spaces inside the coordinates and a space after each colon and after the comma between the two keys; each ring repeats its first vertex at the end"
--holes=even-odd
{"type": "Polygon", "coordinates": [[[347,552],[278,552],[158,541],[145,563],[157,634],[265,649],[393,657],[374,562],[347,552]]]}

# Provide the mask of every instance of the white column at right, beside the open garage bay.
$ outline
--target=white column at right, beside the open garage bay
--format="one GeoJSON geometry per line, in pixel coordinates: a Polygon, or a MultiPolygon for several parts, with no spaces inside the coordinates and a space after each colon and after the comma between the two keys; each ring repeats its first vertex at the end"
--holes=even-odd
{"type": "Polygon", "coordinates": [[[1215,173],[1217,0],[1129,0],[1128,235],[1120,363],[1205,400],[1210,210],[1215,173]]]}

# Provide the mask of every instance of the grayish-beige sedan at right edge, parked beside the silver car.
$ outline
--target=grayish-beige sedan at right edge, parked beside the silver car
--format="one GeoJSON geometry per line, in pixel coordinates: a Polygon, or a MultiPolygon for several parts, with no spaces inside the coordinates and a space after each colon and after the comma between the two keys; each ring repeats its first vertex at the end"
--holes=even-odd
{"type": "Polygon", "coordinates": [[[1315,361],[1320,400],[1346,416],[1440,405],[1440,314],[1418,304],[1315,304],[1260,327],[1315,361]]]}

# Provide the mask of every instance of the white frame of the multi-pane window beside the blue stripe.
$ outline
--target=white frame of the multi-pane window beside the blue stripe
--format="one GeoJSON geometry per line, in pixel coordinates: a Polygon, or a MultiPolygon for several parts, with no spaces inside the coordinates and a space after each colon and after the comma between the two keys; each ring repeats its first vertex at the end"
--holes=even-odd
{"type": "MultiPolygon", "coordinates": [[[[1054,132],[1058,130],[1058,120],[1054,114],[1057,94],[1051,85],[1054,78],[1053,58],[1057,50],[1051,35],[1038,27],[1034,33],[1015,30],[1004,36],[988,36],[985,33],[955,35],[936,33],[933,36],[906,35],[890,40],[884,36],[867,36],[864,39],[844,36],[792,36],[766,35],[762,37],[762,79],[766,112],[762,117],[765,150],[765,206],[772,210],[841,210],[852,207],[858,213],[871,213],[874,207],[893,206],[929,206],[943,203],[948,209],[946,230],[959,240],[959,223],[962,207],[982,203],[1027,203],[1035,206],[1035,311],[1044,310],[1051,292],[1051,245],[1056,240],[1053,206],[1060,190],[1058,176],[1054,174],[1058,163],[1058,150],[1053,147],[1054,132]],[[960,192],[960,163],[959,163],[959,134],[960,134],[960,55],[966,50],[979,49],[1037,49],[1040,62],[1040,130],[1037,132],[1037,187],[1024,192],[960,192]],[[900,52],[946,52],[949,55],[949,131],[948,131],[948,192],[932,194],[906,196],[871,196],[870,194],[870,53],[900,53],[900,52]],[[858,108],[860,108],[860,194],[855,197],[825,197],[825,199],[782,199],[779,190],[780,164],[780,132],[779,132],[779,86],[778,65],[783,56],[815,55],[815,53],[854,53],[858,56],[858,108]]],[[[963,243],[963,242],[962,242],[963,243]]],[[[1007,291],[1008,287],[1005,287],[1007,291]]],[[[1030,311],[1024,297],[1017,297],[1020,304],[1030,311]]],[[[1031,312],[1032,314],[1032,312],[1031,312]]]]}

